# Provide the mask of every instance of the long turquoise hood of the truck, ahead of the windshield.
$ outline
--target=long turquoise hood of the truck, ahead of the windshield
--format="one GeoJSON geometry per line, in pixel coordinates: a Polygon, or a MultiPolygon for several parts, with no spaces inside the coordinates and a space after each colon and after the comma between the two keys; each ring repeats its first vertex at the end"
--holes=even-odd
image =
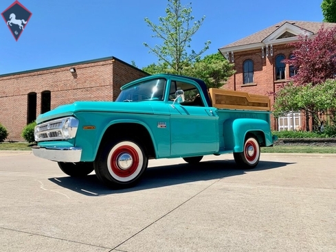
{"type": "Polygon", "coordinates": [[[38,115],[36,123],[60,117],[74,115],[78,112],[113,112],[153,114],[151,102],[74,102],[54,108],[52,111],[38,115]]]}

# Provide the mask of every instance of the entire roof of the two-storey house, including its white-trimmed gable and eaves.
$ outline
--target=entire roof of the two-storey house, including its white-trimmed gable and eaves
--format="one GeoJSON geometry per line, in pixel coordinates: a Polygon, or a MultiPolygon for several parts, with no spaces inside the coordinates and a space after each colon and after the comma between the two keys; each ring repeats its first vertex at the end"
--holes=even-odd
{"type": "Polygon", "coordinates": [[[317,34],[320,28],[324,25],[325,28],[336,26],[336,23],[322,23],[309,21],[281,21],[270,27],[267,27],[260,32],[251,34],[234,43],[225,45],[219,48],[219,51],[244,51],[246,49],[260,48],[268,44],[285,44],[298,39],[299,34],[313,35],[317,34]],[[295,36],[284,36],[282,34],[289,32],[295,36]]]}

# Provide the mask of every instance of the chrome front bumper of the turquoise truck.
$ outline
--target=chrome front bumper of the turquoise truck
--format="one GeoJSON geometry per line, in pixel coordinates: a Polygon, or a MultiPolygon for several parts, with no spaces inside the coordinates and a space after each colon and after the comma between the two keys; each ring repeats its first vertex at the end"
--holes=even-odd
{"type": "Polygon", "coordinates": [[[40,147],[33,146],[32,152],[36,157],[58,162],[76,163],[80,161],[82,148],[69,146],[40,147]]]}

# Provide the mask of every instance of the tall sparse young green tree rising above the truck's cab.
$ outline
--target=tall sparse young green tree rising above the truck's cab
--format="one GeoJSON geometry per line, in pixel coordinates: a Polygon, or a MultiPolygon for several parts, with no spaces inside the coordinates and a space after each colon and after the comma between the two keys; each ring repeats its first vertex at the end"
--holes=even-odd
{"type": "MultiPolygon", "coordinates": [[[[191,3],[190,3],[191,5],[191,3]]],[[[148,27],[154,32],[153,38],[159,38],[163,41],[162,45],[148,47],[149,52],[159,58],[159,63],[165,63],[172,73],[181,74],[183,67],[190,65],[198,60],[207,49],[210,41],[205,42],[203,49],[199,52],[187,51],[191,47],[192,36],[199,30],[205,16],[200,20],[194,21],[191,6],[182,6],[180,0],[168,0],[166,16],[159,17],[159,24],[155,24],[148,18],[145,18],[148,27]]]]}

